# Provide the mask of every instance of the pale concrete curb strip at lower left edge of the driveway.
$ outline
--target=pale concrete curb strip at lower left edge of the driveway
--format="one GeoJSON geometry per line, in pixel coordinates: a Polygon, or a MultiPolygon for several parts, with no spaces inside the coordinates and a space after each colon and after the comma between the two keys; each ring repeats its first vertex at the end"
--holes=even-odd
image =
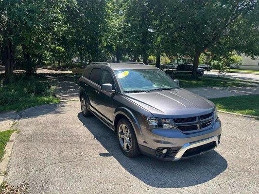
{"type": "Polygon", "coordinates": [[[15,143],[16,135],[17,135],[17,133],[16,133],[16,131],[14,131],[12,133],[12,135],[10,136],[10,139],[7,142],[5,149],[4,149],[5,153],[4,153],[2,161],[0,162],[0,184],[2,184],[4,176],[6,174],[6,168],[7,168],[8,162],[9,162],[12,148],[15,143]]]}

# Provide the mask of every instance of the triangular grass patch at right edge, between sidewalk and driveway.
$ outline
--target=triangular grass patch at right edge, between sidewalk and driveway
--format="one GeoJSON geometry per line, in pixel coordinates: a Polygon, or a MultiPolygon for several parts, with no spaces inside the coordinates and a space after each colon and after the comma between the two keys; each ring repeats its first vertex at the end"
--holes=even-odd
{"type": "Polygon", "coordinates": [[[259,116],[259,95],[220,97],[209,100],[215,103],[218,110],[259,116]]]}

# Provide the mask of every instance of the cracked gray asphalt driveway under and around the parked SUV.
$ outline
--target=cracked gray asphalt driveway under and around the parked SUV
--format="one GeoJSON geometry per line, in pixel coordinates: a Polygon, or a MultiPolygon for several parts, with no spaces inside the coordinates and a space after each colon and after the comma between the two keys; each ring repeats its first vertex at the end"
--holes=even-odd
{"type": "Polygon", "coordinates": [[[219,114],[222,143],[202,156],[161,162],[130,159],[114,133],[80,113],[79,101],[22,113],[5,180],[31,194],[259,193],[259,121],[219,114]]]}

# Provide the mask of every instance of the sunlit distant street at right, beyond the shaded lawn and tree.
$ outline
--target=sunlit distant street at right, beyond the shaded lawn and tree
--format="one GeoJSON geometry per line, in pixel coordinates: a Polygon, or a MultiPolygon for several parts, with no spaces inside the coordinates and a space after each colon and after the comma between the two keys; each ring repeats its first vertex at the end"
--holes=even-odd
{"type": "MultiPolygon", "coordinates": [[[[206,76],[206,71],[205,75],[206,76]]],[[[217,71],[208,71],[208,76],[213,76],[217,77],[218,72],[217,71]]],[[[226,78],[238,78],[241,80],[248,80],[248,81],[259,81],[259,74],[248,74],[248,73],[226,73],[225,76],[226,78]]]]}

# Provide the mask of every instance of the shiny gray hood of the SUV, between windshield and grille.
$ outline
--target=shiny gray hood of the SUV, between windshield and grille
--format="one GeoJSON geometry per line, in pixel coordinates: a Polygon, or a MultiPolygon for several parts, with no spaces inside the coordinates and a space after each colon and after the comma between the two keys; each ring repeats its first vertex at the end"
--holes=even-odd
{"type": "Polygon", "coordinates": [[[185,89],[125,94],[158,118],[184,118],[211,113],[214,104],[185,89]]]}

